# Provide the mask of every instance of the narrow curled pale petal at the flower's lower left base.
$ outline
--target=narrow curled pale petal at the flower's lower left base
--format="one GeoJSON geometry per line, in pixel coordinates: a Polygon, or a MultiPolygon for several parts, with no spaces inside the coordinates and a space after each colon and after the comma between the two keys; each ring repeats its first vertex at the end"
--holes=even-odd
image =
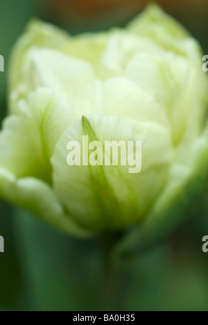
{"type": "Polygon", "coordinates": [[[36,178],[17,180],[13,174],[0,168],[0,195],[10,203],[35,213],[60,231],[83,238],[92,235],[65,215],[53,190],[36,178]]]}

